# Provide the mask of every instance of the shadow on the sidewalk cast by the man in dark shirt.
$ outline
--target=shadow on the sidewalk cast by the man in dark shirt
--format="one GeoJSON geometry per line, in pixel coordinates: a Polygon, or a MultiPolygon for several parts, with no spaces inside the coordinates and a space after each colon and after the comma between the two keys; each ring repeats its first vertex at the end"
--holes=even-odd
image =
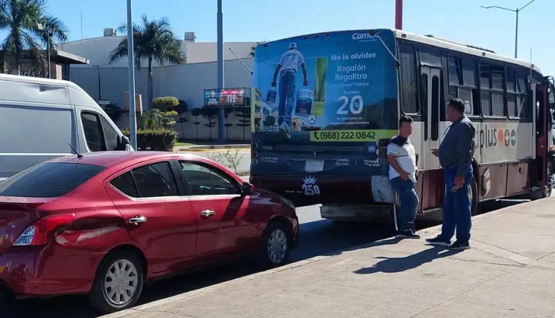
{"type": "Polygon", "coordinates": [[[433,262],[438,258],[456,255],[461,251],[449,251],[441,246],[433,246],[427,250],[404,257],[376,257],[381,260],[372,267],[357,269],[354,273],[371,274],[371,273],[399,273],[409,269],[415,269],[423,264],[433,262]]]}

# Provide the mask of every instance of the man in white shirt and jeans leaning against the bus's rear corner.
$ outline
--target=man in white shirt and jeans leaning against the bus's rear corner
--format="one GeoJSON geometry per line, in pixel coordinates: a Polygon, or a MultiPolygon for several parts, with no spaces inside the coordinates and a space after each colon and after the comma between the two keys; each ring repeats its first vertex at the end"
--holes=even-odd
{"type": "Polygon", "coordinates": [[[415,233],[415,218],[418,207],[416,193],[417,162],[415,147],[410,141],[412,134],[412,118],[401,116],[399,134],[391,138],[387,145],[387,161],[389,161],[389,182],[399,194],[399,237],[419,239],[415,233]]]}

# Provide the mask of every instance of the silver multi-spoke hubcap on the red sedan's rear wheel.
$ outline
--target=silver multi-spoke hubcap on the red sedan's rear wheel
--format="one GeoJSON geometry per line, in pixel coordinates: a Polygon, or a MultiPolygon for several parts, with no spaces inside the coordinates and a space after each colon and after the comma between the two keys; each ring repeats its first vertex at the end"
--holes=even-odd
{"type": "Polygon", "coordinates": [[[128,260],[114,262],[104,278],[104,293],[115,305],[128,303],[137,291],[138,274],[135,265],[128,260]]]}

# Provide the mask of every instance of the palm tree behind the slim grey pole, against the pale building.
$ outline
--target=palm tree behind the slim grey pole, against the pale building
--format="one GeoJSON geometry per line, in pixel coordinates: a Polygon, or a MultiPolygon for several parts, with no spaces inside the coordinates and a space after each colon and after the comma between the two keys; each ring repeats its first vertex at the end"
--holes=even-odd
{"type": "MultiPolygon", "coordinates": [[[[127,32],[127,24],[122,24],[118,31],[127,32]]],[[[175,38],[167,17],[149,21],[147,16],[143,15],[141,23],[133,26],[133,45],[135,67],[140,67],[143,60],[148,62],[147,101],[150,107],[152,106],[152,61],[156,60],[160,65],[164,65],[166,62],[172,64],[184,63],[185,56],[181,52],[181,41],[175,38]]],[[[124,38],[118,47],[111,52],[110,63],[126,56],[127,38],[124,38]]]]}

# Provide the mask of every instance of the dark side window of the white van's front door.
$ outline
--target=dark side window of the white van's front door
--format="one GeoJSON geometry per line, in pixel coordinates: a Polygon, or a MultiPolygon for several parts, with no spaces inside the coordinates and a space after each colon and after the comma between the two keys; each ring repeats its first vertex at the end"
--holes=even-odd
{"type": "Polygon", "coordinates": [[[113,151],[118,148],[118,133],[104,116],[97,113],[81,113],[83,132],[90,151],[113,151]]]}

